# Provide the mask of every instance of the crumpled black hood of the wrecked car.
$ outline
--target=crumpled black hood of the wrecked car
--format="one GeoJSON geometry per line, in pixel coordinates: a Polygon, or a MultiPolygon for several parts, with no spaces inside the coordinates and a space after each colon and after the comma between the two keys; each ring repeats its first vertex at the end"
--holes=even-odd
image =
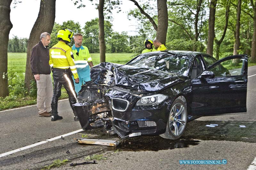
{"type": "Polygon", "coordinates": [[[181,81],[183,75],[116,63],[100,63],[91,68],[91,78],[98,85],[126,86],[138,92],[154,92],[181,81]]]}

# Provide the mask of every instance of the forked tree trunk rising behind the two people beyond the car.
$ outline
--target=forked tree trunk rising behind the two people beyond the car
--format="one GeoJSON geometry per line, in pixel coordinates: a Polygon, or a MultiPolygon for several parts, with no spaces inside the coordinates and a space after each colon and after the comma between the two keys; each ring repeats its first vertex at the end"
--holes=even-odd
{"type": "Polygon", "coordinates": [[[168,29],[168,11],[167,11],[167,0],[157,0],[157,18],[158,24],[154,21],[152,17],[148,15],[146,11],[139,5],[139,3],[135,0],[132,1],[140,10],[140,13],[145,15],[150,23],[153,25],[154,29],[156,30],[156,39],[162,42],[163,44],[166,43],[166,34],[168,29]]]}

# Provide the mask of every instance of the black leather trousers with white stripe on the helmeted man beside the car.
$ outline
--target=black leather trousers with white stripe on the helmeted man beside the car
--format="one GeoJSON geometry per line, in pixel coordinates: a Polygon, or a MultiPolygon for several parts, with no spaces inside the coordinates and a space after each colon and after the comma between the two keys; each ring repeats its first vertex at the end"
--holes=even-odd
{"type": "Polygon", "coordinates": [[[53,85],[53,96],[52,96],[52,114],[58,114],[58,99],[61,95],[61,87],[62,85],[66,89],[68,93],[68,99],[70,106],[73,110],[74,115],[76,115],[75,109],[72,106],[76,103],[77,94],[75,92],[74,82],[71,76],[71,71],[69,69],[55,69],[52,72],[52,77],[54,81],[53,85]]]}

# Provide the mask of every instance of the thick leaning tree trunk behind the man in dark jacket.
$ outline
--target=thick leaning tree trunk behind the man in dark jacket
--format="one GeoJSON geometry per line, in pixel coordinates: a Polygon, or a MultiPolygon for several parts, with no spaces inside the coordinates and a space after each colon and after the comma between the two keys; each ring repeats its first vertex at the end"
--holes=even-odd
{"type": "Polygon", "coordinates": [[[29,90],[30,81],[33,79],[31,65],[30,65],[30,55],[32,48],[40,41],[40,35],[43,32],[52,33],[52,28],[55,20],[55,2],[56,0],[41,0],[40,10],[36,19],[36,22],[31,30],[28,39],[27,48],[27,63],[26,63],[26,74],[25,74],[25,84],[29,90]]]}

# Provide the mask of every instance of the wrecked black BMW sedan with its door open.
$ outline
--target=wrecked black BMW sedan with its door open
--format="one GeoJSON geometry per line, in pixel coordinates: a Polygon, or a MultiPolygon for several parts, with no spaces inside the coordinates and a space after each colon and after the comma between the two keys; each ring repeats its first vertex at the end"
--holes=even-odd
{"type": "Polygon", "coordinates": [[[178,139],[188,121],[246,112],[247,62],[246,55],[217,61],[200,52],[156,51],[124,65],[100,63],[75,110],[83,129],[178,139]]]}

